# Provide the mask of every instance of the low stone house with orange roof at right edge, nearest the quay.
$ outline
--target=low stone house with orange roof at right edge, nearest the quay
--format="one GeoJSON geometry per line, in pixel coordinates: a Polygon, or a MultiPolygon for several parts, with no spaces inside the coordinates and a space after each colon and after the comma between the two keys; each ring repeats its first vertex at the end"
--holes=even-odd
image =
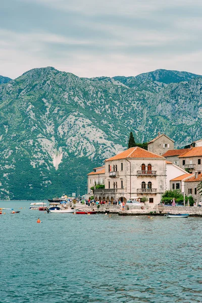
{"type": "Polygon", "coordinates": [[[201,181],[202,174],[200,172],[195,172],[191,178],[188,178],[184,181],[184,192],[187,196],[192,195],[196,205],[202,201],[202,197],[197,191],[197,186],[201,181]]]}

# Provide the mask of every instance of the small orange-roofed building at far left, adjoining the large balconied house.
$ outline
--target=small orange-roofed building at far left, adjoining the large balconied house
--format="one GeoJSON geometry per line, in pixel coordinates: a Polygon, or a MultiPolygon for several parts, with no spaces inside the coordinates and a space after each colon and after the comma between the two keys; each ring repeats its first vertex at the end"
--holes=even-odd
{"type": "Polygon", "coordinates": [[[87,194],[93,194],[93,191],[90,189],[90,187],[98,184],[105,184],[105,166],[93,168],[93,171],[87,174],[87,176],[87,194]]]}

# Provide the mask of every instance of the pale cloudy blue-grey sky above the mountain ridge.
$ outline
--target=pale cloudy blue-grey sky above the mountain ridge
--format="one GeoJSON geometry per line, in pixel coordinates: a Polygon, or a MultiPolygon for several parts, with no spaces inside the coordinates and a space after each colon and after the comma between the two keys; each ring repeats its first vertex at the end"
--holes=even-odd
{"type": "Polygon", "coordinates": [[[202,74],[201,0],[0,0],[0,75],[202,74]]]}

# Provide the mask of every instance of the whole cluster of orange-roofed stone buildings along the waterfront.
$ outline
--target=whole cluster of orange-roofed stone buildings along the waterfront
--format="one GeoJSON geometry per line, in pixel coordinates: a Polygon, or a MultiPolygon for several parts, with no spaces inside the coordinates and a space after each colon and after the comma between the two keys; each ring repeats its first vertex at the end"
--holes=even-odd
{"type": "Polygon", "coordinates": [[[148,142],[148,150],[131,147],[105,160],[105,166],[87,175],[88,195],[106,203],[133,198],[155,206],[166,190],[179,189],[198,205],[202,200],[197,190],[202,181],[202,139],[183,149],[174,149],[174,143],[159,133],[148,142]]]}

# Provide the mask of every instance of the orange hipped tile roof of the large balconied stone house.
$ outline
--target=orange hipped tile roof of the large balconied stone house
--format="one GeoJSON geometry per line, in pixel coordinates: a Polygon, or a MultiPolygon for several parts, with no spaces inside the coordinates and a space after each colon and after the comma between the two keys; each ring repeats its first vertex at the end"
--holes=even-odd
{"type": "Polygon", "coordinates": [[[138,146],[136,147],[131,147],[129,149],[126,149],[124,151],[122,151],[122,153],[109,158],[105,161],[113,161],[113,160],[120,160],[120,159],[131,159],[131,158],[162,158],[164,159],[164,157],[156,155],[151,153],[148,150],[145,150],[143,148],[140,148],[138,146]]]}

